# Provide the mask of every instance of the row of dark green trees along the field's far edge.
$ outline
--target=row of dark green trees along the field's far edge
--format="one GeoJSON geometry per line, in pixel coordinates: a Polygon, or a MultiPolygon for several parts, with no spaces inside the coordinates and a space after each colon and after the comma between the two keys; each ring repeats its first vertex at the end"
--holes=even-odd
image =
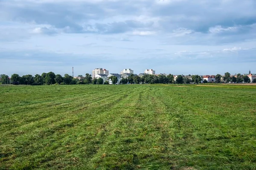
{"type": "MultiPolygon", "coordinates": [[[[113,84],[120,83],[120,84],[190,84],[190,83],[207,83],[207,80],[199,76],[199,75],[192,75],[192,76],[183,76],[178,75],[176,79],[174,75],[151,75],[145,74],[143,77],[135,76],[131,74],[127,79],[122,78],[120,82],[118,82],[117,77],[111,76],[108,80],[103,80],[102,78],[93,79],[90,74],[85,74],[85,77],[79,75],[81,79],[74,79],[69,74],[65,74],[62,77],[60,74],[54,74],[53,72],[43,73],[41,75],[36,74],[32,76],[31,74],[24,75],[20,77],[18,74],[12,74],[11,78],[9,79],[8,75],[1,74],[0,75],[0,82],[2,84],[15,84],[15,85],[53,85],[53,84],[63,84],[63,85],[75,85],[75,84],[109,84],[109,81],[113,84]]],[[[220,74],[215,76],[215,83],[221,82],[233,82],[233,83],[241,83],[241,82],[250,82],[250,78],[247,75],[236,74],[236,76],[230,75],[230,73],[226,72],[222,77],[220,74]]],[[[253,79],[253,82],[256,82],[256,79],[253,79]]]]}

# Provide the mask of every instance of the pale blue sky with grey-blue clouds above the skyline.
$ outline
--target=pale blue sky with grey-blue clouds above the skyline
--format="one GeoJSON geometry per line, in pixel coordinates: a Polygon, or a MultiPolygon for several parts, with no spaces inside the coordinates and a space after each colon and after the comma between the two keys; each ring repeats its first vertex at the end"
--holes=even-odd
{"type": "Polygon", "coordinates": [[[256,73],[255,0],[0,0],[0,74],[256,73]]]}

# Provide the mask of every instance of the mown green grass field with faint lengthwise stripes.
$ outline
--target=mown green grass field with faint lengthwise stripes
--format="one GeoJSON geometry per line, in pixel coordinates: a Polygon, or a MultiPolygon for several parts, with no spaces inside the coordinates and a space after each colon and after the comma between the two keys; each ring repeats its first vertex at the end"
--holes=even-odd
{"type": "Polygon", "coordinates": [[[256,86],[0,87],[0,169],[256,169],[256,86]]]}

